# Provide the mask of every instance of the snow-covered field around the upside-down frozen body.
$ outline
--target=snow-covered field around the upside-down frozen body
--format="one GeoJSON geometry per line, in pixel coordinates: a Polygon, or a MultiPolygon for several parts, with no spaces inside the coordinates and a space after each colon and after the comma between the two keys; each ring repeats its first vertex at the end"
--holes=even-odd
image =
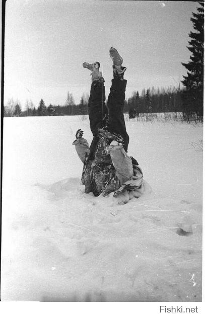
{"type": "Polygon", "coordinates": [[[117,205],[80,184],[88,119],[4,119],[2,300],[201,300],[202,125],[126,126],[152,192],[117,205]]]}

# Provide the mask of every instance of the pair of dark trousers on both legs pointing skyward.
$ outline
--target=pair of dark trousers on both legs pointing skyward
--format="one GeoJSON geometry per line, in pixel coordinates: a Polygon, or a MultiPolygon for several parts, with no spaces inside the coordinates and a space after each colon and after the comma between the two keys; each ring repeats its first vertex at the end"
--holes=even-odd
{"type": "Polygon", "coordinates": [[[108,131],[118,133],[123,137],[123,146],[127,152],[129,136],[126,132],[123,115],[126,84],[126,80],[112,80],[107,107],[105,106],[105,87],[103,83],[93,82],[91,85],[88,101],[90,128],[93,133],[93,140],[90,145],[90,160],[94,158],[94,151],[98,142],[98,128],[102,128],[106,123],[108,131]]]}

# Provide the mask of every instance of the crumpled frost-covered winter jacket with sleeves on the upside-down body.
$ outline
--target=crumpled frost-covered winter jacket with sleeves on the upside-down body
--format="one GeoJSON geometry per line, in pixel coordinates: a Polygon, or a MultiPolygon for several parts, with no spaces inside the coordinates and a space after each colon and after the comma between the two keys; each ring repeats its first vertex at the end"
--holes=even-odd
{"type": "Polygon", "coordinates": [[[81,182],[85,185],[86,193],[106,196],[114,192],[114,197],[128,195],[132,198],[139,197],[143,192],[143,172],[138,162],[126,154],[122,144],[112,142],[109,145],[99,138],[94,160],[89,160],[86,139],[81,137],[73,145],[84,163],[81,182]]]}

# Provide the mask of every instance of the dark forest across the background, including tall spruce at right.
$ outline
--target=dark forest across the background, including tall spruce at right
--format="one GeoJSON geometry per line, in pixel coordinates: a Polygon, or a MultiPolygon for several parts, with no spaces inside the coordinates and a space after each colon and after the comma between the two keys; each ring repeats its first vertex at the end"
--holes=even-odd
{"type": "MultiPolygon", "coordinates": [[[[181,113],[182,120],[203,122],[203,36],[204,36],[204,4],[198,2],[197,13],[192,13],[190,21],[196,32],[190,32],[187,49],[191,52],[190,60],[182,65],[187,73],[183,80],[177,83],[177,88],[143,89],[134,91],[132,96],[125,100],[124,113],[129,114],[129,119],[140,117],[144,114],[154,113],[181,113]],[[183,87],[180,87],[180,83],[183,87]]],[[[43,99],[38,106],[26,101],[25,110],[22,111],[21,103],[13,98],[4,105],[4,117],[22,116],[63,116],[87,115],[89,95],[83,94],[80,104],[75,104],[73,94],[67,92],[65,104],[46,106],[43,99]]]]}

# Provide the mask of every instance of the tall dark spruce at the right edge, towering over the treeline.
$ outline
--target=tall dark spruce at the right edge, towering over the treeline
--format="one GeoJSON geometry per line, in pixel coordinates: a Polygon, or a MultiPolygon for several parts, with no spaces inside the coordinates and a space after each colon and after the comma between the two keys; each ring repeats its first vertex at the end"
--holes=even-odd
{"type": "Polygon", "coordinates": [[[185,116],[195,114],[203,120],[203,22],[204,4],[198,2],[198,13],[192,13],[190,20],[196,32],[190,32],[188,50],[191,52],[190,61],[182,63],[187,69],[187,75],[181,81],[185,86],[182,93],[183,112],[185,116]]]}

